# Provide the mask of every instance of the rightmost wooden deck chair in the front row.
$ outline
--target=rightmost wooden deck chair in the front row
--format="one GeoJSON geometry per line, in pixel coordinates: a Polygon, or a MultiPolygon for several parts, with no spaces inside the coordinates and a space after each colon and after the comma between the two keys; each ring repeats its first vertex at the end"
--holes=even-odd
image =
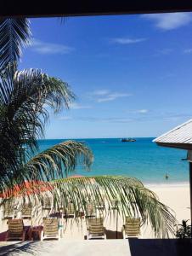
{"type": "Polygon", "coordinates": [[[123,239],[136,237],[140,235],[140,218],[126,217],[126,224],[122,227],[123,239]]]}

